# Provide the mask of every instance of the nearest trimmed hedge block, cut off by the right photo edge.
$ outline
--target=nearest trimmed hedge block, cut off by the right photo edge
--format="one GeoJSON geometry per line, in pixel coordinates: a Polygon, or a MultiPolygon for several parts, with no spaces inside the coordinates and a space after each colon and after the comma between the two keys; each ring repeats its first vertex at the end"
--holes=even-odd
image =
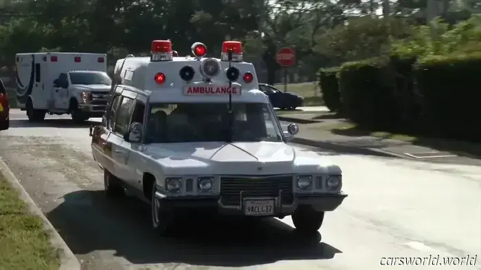
{"type": "Polygon", "coordinates": [[[430,56],[415,67],[425,132],[481,141],[481,53],[430,56]]]}

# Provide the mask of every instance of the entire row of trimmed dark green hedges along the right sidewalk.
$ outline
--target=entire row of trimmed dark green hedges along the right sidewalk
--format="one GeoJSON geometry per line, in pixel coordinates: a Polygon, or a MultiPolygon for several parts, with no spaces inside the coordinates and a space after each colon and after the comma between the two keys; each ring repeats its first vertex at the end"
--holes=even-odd
{"type": "Polygon", "coordinates": [[[328,108],[365,127],[481,142],[481,53],[348,62],[319,79],[328,108]]]}

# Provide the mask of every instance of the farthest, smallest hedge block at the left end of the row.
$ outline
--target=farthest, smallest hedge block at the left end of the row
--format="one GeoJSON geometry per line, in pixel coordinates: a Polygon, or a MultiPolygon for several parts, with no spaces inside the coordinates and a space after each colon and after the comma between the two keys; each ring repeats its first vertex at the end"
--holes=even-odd
{"type": "Polygon", "coordinates": [[[339,93],[339,84],[337,83],[338,72],[339,67],[320,69],[318,73],[322,98],[331,112],[339,112],[341,108],[341,95],[339,93]]]}

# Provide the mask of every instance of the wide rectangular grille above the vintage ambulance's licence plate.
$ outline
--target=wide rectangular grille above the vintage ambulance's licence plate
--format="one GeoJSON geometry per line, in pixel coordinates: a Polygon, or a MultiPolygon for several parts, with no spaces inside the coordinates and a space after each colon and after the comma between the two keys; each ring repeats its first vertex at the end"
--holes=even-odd
{"type": "Polygon", "coordinates": [[[244,197],[278,197],[282,190],[282,204],[292,204],[292,180],[292,175],[221,177],[221,201],[238,206],[241,191],[244,197]]]}

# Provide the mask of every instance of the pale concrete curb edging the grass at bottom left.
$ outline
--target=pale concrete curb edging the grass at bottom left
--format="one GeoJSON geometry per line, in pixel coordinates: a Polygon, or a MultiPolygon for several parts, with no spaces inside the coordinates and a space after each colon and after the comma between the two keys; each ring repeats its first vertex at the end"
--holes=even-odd
{"type": "Polygon", "coordinates": [[[19,180],[16,179],[15,175],[12,173],[12,171],[10,171],[7,164],[5,164],[1,158],[0,170],[7,181],[12,184],[12,187],[19,192],[20,198],[25,201],[25,204],[27,204],[28,208],[30,208],[30,212],[36,214],[38,217],[41,217],[45,225],[45,229],[51,236],[50,242],[52,243],[52,246],[62,251],[60,252],[59,270],[80,270],[80,262],[78,262],[74,253],[70,250],[65,241],[63,241],[63,238],[60,236],[60,234],[58,234],[58,232],[55,230],[54,225],[50,223],[43,212],[38,208],[38,206],[36,206],[33,199],[30,197],[30,195],[28,195],[27,191],[25,191],[25,188],[23,188],[19,180]]]}

